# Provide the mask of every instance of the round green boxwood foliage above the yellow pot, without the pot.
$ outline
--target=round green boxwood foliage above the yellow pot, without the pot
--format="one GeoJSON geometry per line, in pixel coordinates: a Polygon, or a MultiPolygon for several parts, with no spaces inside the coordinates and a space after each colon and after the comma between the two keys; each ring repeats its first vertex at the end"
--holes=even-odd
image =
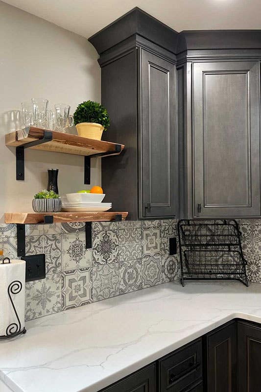
{"type": "Polygon", "coordinates": [[[80,103],[73,114],[74,125],[79,123],[97,123],[104,126],[106,131],[110,125],[107,110],[98,102],[91,100],[80,103]]]}

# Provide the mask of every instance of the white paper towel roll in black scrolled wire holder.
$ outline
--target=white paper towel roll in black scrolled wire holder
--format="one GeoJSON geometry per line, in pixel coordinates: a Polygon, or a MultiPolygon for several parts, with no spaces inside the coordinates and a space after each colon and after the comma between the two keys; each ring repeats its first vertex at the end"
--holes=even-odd
{"type": "Polygon", "coordinates": [[[25,261],[0,261],[0,336],[24,329],[24,286],[25,261]]]}

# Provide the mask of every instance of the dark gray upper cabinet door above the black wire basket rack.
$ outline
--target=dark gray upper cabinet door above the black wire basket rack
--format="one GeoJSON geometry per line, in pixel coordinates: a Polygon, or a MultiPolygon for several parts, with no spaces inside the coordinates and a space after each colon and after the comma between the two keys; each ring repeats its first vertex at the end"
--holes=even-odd
{"type": "Polygon", "coordinates": [[[260,215],[259,64],[193,65],[194,216],[260,215]]]}

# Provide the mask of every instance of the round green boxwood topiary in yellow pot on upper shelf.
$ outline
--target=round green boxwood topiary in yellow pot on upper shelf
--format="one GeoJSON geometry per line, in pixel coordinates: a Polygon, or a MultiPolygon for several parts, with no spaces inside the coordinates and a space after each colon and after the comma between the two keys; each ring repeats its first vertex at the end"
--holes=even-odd
{"type": "Polygon", "coordinates": [[[77,106],[73,119],[78,135],[89,139],[101,140],[103,130],[106,131],[110,125],[110,118],[105,107],[90,100],[77,106]]]}

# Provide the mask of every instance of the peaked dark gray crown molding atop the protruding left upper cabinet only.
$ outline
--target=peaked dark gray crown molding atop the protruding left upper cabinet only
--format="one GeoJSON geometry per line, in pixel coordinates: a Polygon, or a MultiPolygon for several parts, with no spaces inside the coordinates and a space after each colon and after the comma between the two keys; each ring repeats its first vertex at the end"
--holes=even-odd
{"type": "Polygon", "coordinates": [[[134,34],[176,53],[178,33],[138,7],[98,31],[89,41],[101,54],[134,34]]]}

